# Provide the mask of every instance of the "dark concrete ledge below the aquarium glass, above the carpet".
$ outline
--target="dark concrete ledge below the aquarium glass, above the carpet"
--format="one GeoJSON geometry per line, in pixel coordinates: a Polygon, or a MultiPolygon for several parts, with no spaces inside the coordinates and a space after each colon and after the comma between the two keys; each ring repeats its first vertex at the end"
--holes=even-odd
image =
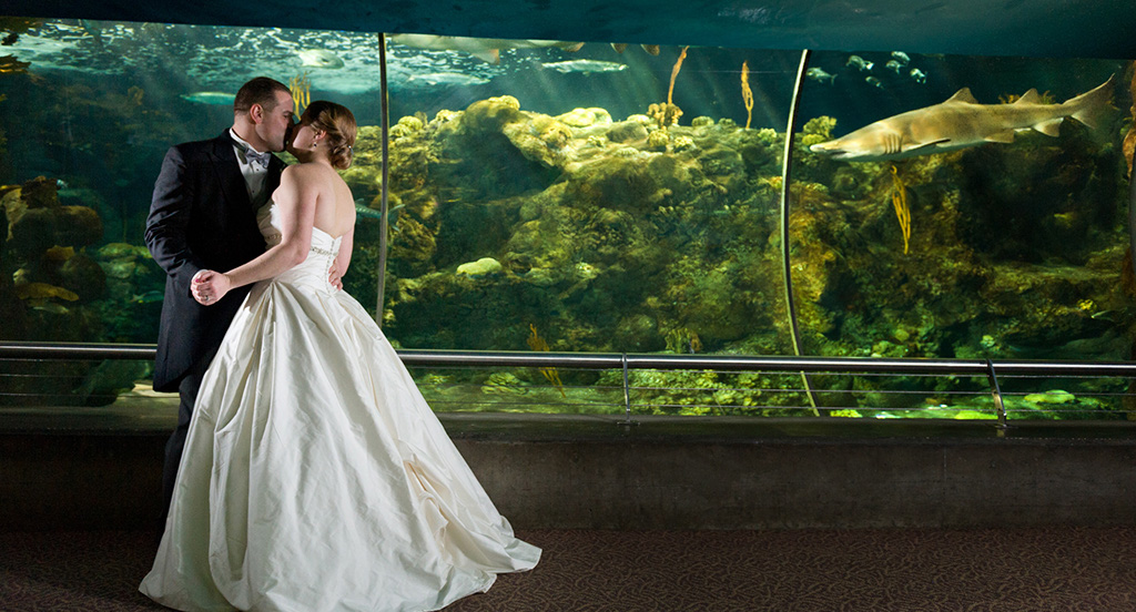
{"type": "MultiPolygon", "coordinates": [[[[1136,525],[1127,424],[440,418],[519,528],[1136,525]]],[[[164,419],[0,422],[0,529],[153,525],[164,419]]]]}

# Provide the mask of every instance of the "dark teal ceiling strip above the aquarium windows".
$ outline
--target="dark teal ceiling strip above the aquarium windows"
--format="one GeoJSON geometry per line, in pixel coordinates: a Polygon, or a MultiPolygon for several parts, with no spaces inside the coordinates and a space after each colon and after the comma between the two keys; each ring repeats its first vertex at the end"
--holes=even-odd
{"type": "Polygon", "coordinates": [[[0,10],[501,39],[1136,58],[1133,0],[6,0],[0,10]]]}

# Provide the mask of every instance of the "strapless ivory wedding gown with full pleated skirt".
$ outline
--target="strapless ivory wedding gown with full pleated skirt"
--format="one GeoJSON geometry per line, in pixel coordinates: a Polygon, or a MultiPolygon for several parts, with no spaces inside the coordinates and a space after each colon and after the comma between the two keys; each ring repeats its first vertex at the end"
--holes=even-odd
{"type": "MultiPolygon", "coordinates": [[[[276,207],[259,213],[279,242],[276,207]]],[[[359,303],[339,238],[257,283],[201,384],[153,569],[177,610],[438,610],[533,568],[359,303]]]]}

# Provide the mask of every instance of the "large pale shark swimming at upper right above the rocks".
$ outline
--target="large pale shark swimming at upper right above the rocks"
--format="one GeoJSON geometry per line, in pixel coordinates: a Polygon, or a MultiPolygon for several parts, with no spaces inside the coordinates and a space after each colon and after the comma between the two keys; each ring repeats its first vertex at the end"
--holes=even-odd
{"type": "Polygon", "coordinates": [[[1061,121],[1072,117],[1089,128],[1103,126],[1116,111],[1112,81],[1070,98],[1043,104],[1036,89],[1012,104],[980,104],[969,87],[945,102],[880,119],[827,142],[813,144],[815,153],[847,161],[880,161],[957,151],[988,142],[1011,143],[1014,132],[1035,129],[1058,136],[1061,121]]]}

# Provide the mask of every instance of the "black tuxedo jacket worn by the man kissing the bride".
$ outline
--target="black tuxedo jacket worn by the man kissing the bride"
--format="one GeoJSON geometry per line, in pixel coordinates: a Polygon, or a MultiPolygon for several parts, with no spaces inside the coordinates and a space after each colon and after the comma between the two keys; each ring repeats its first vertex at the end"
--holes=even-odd
{"type": "MultiPolygon", "coordinates": [[[[220,345],[249,287],[203,307],[190,294],[199,270],[228,271],[265,252],[257,211],[226,129],[220,136],[169,149],[153,186],[145,243],[166,270],[153,388],[177,391],[190,368],[220,345]]],[[[265,190],[279,185],[284,162],[274,156],[265,190]]]]}

